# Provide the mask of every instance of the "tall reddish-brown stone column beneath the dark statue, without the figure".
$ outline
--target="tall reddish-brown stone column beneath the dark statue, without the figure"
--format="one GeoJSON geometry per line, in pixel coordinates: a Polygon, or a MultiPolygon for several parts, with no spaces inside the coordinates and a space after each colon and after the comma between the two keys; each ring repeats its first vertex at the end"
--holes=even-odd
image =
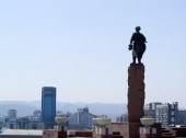
{"type": "Polygon", "coordinates": [[[128,68],[129,138],[139,138],[140,118],[144,106],[144,66],[131,64],[128,68]]]}

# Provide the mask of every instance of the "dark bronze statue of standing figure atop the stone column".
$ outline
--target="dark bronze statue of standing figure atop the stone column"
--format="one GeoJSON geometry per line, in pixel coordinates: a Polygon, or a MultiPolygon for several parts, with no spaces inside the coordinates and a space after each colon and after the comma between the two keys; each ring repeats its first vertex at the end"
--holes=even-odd
{"type": "Polygon", "coordinates": [[[141,27],[137,26],[136,32],[132,34],[129,44],[129,50],[132,49],[132,64],[136,64],[136,58],[138,58],[138,64],[141,64],[141,58],[146,51],[146,37],[140,33],[141,27]]]}

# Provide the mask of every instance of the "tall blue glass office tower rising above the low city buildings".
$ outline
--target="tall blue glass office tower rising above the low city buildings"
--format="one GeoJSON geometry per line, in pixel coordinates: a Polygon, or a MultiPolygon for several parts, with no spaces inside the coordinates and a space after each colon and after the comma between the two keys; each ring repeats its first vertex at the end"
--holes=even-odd
{"type": "Polygon", "coordinates": [[[56,117],[56,88],[42,88],[42,119],[44,128],[50,129],[55,126],[56,117]]]}

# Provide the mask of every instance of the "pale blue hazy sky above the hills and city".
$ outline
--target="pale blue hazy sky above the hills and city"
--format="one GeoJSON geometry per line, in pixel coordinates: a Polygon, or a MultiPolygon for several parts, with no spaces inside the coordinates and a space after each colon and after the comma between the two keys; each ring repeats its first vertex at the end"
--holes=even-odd
{"type": "Polygon", "coordinates": [[[186,107],[186,0],[1,0],[0,101],[127,103],[128,44],[148,39],[146,103],[186,107]]]}

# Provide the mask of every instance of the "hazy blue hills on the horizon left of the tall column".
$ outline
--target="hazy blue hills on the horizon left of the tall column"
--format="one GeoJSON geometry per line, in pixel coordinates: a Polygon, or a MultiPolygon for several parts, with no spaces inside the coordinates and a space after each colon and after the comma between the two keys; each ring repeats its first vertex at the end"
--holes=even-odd
{"type": "MultiPolygon", "coordinates": [[[[90,113],[116,117],[127,112],[126,104],[113,103],[62,103],[57,102],[57,111],[75,113],[78,108],[89,107],[90,113]]],[[[40,101],[0,101],[0,116],[7,116],[9,110],[16,110],[18,115],[32,115],[40,110],[40,101]]]]}

